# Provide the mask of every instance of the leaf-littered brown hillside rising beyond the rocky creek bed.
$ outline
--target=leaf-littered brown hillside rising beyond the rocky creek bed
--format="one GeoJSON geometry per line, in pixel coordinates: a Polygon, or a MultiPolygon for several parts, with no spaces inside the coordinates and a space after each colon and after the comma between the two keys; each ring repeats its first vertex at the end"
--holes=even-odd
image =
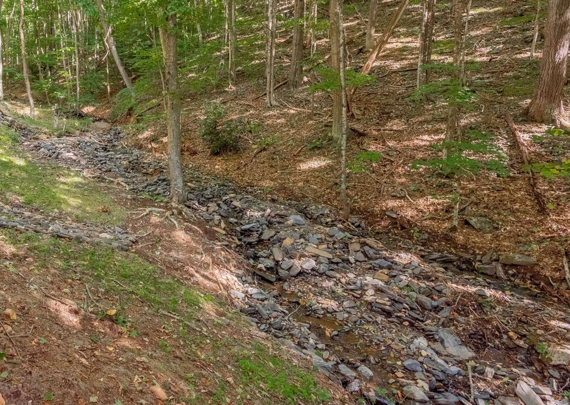
{"type": "MultiPolygon", "coordinates": [[[[380,3],[378,15],[382,17],[377,35],[388,24],[388,16],[394,13],[397,3],[380,3]]],[[[365,31],[365,19],[361,16],[367,14],[366,7],[364,2],[345,6],[347,38],[356,38],[349,47],[349,68],[359,68],[367,58],[367,53],[359,48],[364,42],[361,34],[365,31]]],[[[416,159],[426,160],[441,153],[434,147],[441,144],[446,122],[445,103],[408,100],[416,83],[419,2],[412,1],[408,6],[374,64],[372,75],[376,83],[357,90],[355,116],[349,124],[366,135],[355,134],[349,142],[352,170],[348,193],[353,214],[365,218],[373,232],[392,233],[416,244],[473,256],[491,249],[530,255],[539,265],[526,268],[519,275],[522,281],[557,288],[560,284],[565,286],[560,247],[567,244],[570,236],[568,180],[539,178],[539,193],[548,207],[548,212],[540,212],[522,168],[520,151],[504,119],[504,112],[515,116],[534,162],[559,162],[570,157],[568,133],[547,133],[548,126],[524,121],[524,108],[534,92],[540,61],[529,55],[535,11],[532,1],[473,2],[467,58],[477,62],[477,68],[469,72],[469,87],[477,100],[463,111],[461,125],[467,134],[474,131],[488,136],[510,175],[501,177],[481,170],[462,177],[459,205],[465,208],[460,212],[457,232],[449,231],[455,180],[431,169],[412,167],[416,159]],[[380,153],[381,158],[367,162],[362,154],[367,151],[380,153]],[[390,215],[386,215],[387,211],[390,215]],[[475,230],[465,222],[471,217],[490,219],[494,230],[475,230]]],[[[249,17],[246,14],[240,18],[249,17]]],[[[251,26],[256,27],[253,23],[251,26]]],[[[453,48],[450,3],[438,4],[434,32],[433,59],[449,62],[453,48]]],[[[279,35],[276,83],[287,77],[290,49],[287,32],[279,35]]],[[[250,35],[243,36],[245,41],[250,35]]],[[[541,44],[539,38],[538,56],[541,44]]],[[[319,40],[315,59],[328,51],[328,40],[319,40]]],[[[262,50],[259,52],[262,54],[262,50]]],[[[259,97],[264,92],[264,81],[260,80],[263,73],[258,73],[258,80],[251,80],[249,70],[238,69],[233,86],[209,89],[207,95],[192,95],[184,101],[185,161],[238,185],[257,187],[268,196],[339,206],[339,154],[327,137],[332,120],[330,97],[316,93],[311,105],[310,83],[298,91],[283,86],[276,91],[282,107],[268,109],[264,97],[259,97]],[[223,104],[226,119],[243,117],[257,128],[242,138],[238,152],[211,156],[197,136],[203,105],[210,101],[223,104]],[[262,152],[256,153],[262,146],[262,152]]],[[[315,74],[307,72],[308,80],[315,81],[315,74]]],[[[438,78],[436,73],[434,79],[438,78]]],[[[184,80],[192,83],[193,79],[184,80]]],[[[105,108],[108,112],[107,105],[96,113],[104,117],[105,108]]],[[[156,111],[145,114],[152,118],[156,111]]],[[[140,124],[125,126],[132,133],[129,144],[164,156],[165,126],[161,120],[146,120],[145,114],[138,118],[140,124]]]]}

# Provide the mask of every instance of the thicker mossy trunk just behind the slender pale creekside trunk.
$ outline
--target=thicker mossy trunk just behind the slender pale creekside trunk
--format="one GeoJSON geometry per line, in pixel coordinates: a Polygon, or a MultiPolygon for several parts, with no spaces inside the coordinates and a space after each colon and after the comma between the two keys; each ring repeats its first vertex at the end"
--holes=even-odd
{"type": "MultiPolygon", "coordinates": [[[[341,51],[344,54],[344,49],[341,50],[341,30],[343,27],[340,26],[340,10],[343,0],[331,0],[329,2],[329,36],[331,38],[331,65],[336,72],[344,72],[344,66],[341,66],[341,62],[344,62],[344,58],[341,60],[341,51]]],[[[344,56],[344,55],[343,55],[344,56]]],[[[331,135],[333,141],[337,145],[343,142],[343,109],[346,108],[346,104],[343,104],[346,95],[343,95],[341,91],[341,86],[336,87],[332,92],[332,130],[331,135]]]]}

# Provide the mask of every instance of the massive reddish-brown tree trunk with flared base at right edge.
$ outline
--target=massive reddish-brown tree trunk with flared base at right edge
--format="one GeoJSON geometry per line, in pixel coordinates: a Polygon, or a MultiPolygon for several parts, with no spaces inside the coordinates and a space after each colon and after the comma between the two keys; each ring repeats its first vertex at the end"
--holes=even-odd
{"type": "Polygon", "coordinates": [[[570,122],[562,104],[562,91],[570,41],[570,0],[548,2],[544,37],[538,87],[528,106],[528,117],[536,122],[568,126],[570,122]]]}

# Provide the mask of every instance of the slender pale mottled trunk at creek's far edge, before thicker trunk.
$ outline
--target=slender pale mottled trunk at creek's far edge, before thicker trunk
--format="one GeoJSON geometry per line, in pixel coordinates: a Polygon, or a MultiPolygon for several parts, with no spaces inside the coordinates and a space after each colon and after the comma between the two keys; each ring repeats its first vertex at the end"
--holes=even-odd
{"type": "Polygon", "coordinates": [[[340,39],[340,64],[339,64],[339,76],[340,76],[340,93],[341,93],[341,158],[340,158],[340,202],[343,204],[343,218],[348,219],[351,215],[351,207],[347,196],[347,136],[348,136],[348,120],[347,120],[347,84],[344,76],[344,69],[346,58],[344,55],[344,23],[343,23],[343,0],[337,1],[337,16],[339,18],[338,28],[339,28],[339,39],[340,39]]]}

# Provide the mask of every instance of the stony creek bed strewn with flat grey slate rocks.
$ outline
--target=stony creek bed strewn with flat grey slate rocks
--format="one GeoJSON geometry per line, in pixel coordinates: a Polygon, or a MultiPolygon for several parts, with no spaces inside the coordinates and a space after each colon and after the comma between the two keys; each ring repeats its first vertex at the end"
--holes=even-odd
{"type": "MultiPolygon", "coordinates": [[[[1,120],[35,157],[129,193],[168,197],[166,161],[125,147],[117,128],[38,139],[33,128],[1,120]]],[[[331,207],[266,198],[193,167],[185,181],[188,207],[213,243],[249,261],[234,272],[235,307],[355,400],[568,403],[570,311],[486,274],[504,275],[528,264],[524,257],[432,252],[370,235],[359,218],[343,222],[331,207]]]]}

